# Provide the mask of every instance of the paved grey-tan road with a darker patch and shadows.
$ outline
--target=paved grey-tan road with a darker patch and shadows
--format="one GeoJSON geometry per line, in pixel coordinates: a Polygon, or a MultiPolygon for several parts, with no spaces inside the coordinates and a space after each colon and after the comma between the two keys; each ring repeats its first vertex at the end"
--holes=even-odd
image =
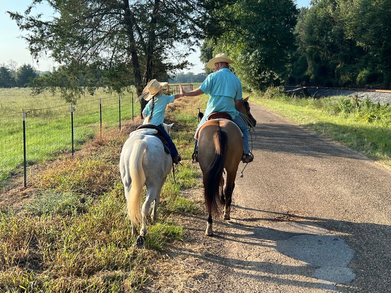
{"type": "Polygon", "coordinates": [[[231,221],[216,219],[205,240],[197,290],[391,292],[391,172],[259,106],[251,112],[255,160],[237,176],[231,221]]]}

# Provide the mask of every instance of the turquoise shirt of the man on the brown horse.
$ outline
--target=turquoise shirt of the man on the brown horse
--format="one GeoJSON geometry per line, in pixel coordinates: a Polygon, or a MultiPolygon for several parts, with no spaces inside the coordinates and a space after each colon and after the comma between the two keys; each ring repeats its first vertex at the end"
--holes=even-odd
{"type": "Polygon", "coordinates": [[[205,116],[214,112],[225,112],[234,119],[239,115],[235,109],[235,100],[242,99],[241,83],[230,69],[222,68],[208,75],[200,89],[209,94],[205,116]]]}

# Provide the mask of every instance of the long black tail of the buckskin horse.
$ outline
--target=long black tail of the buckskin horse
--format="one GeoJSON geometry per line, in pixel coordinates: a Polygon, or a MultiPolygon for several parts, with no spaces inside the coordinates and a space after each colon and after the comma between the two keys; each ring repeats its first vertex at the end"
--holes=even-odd
{"type": "Polygon", "coordinates": [[[204,175],[204,196],[205,203],[211,205],[214,211],[217,210],[217,200],[221,178],[224,171],[224,162],[227,157],[228,135],[227,132],[218,128],[213,134],[213,144],[215,156],[212,163],[209,165],[208,174],[204,175]]]}

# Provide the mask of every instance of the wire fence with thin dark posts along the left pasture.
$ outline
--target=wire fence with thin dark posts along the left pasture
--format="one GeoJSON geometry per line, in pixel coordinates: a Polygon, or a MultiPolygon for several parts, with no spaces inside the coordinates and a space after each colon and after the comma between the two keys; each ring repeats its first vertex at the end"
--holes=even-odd
{"type": "MultiPolygon", "coordinates": [[[[193,89],[183,85],[185,91],[193,89]]],[[[169,85],[164,94],[176,94],[178,85],[169,85]]],[[[105,129],[121,129],[121,122],[140,115],[135,92],[80,101],[49,108],[23,109],[0,114],[0,188],[7,179],[23,172],[27,186],[28,168],[63,153],[74,154],[105,129]]],[[[39,105],[38,105],[39,106],[39,105]]]]}

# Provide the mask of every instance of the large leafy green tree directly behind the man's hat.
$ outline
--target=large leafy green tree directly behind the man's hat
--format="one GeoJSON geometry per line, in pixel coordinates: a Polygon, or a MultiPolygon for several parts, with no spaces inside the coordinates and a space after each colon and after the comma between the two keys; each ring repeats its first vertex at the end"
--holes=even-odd
{"type": "MultiPolygon", "coordinates": [[[[241,0],[209,7],[217,19],[208,37],[215,42],[213,55],[226,53],[243,84],[264,89],[280,84],[294,51],[293,30],[298,13],[292,0],[241,0]]],[[[210,25],[211,26],[211,25],[210,25]]],[[[207,43],[205,49],[210,46],[207,43]]],[[[209,52],[207,53],[209,54],[209,52]]]]}

